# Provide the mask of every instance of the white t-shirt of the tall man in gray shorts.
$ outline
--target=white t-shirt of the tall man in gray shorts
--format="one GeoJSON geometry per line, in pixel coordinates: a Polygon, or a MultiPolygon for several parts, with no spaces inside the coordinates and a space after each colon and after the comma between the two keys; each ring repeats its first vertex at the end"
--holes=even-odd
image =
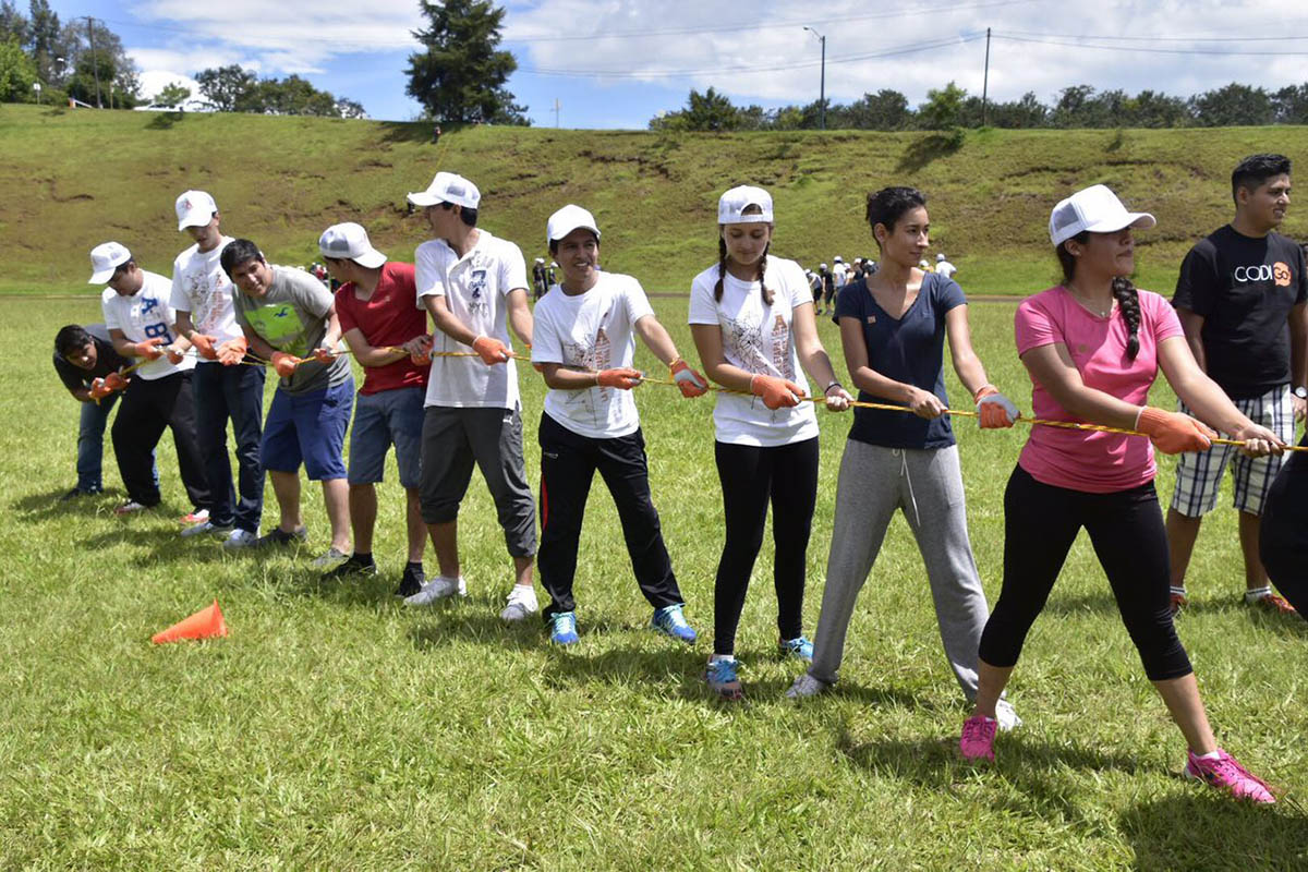
{"type": "MultiPolygon", "coordinates": [[[[477,335],[509,339],[510,290],[527,289],[527,264],[508,239],[477,230],[477,241],[462,258],[445,239],[428,239],[413,252],[417,305],[422,297],[445,297],[455,318],[477,335]]],[[[434,352],[471,352],[436,331],[434,352]]],[[[424,405],[518,408],[518,370],[513,358],[487,366],[479,357],[433,357],[424,405]]]]}

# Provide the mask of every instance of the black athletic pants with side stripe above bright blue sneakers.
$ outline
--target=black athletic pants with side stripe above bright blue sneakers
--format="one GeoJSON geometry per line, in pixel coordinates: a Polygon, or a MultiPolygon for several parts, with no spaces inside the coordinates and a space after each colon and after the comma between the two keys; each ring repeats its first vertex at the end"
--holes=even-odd
{"type": "Polygon", "coordinates": [[[572,612],[577,546],[586,515],[590,482],[599,471],[617,506],[627,553],[641,594],[654,608],[681,603],[672,561],[663,545],[658,511],[650,499],[645,465],[645,437],[637,429],[613,439],[593,439],[573,433],[548,414],[540,416],[540,550],[536,565],[540,586],[552,600],[548,620],[572,612]]]}

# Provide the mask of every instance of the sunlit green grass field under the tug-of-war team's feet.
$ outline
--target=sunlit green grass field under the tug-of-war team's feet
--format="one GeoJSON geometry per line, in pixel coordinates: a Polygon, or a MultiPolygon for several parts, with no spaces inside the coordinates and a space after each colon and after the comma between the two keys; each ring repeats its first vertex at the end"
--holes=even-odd
{"type": "MultiPolygon", "coordinates": [[[[689,349],[684,301],[654,302],[689,349]]],[[[1012,306],[972,310],[991,380],[1029,409],[1012,306]]],[[[383,573],[362,583],[323,584],[309,567],[327,546],[317,488],[305,490],[310,546],[300,553],[233,557],[216,541],[183,543],[169,437],[165,510],[118,519],[120,494],[55,503],[73,481],[77,418],[47,337],[94,319],[95,306],[8,298],[0,314],[10,349],[0,367],[0,416],[10,421],[0,433],[0,868],[1308,864],[1296,807],[1248,808],[1180,779],[1181,736],[1084,539],[1011,685],[1025,726],[999,740],[998,765],[973,770],[952,754],[965,710],[900,518],[859,600],[837,692],[800,706],[782,698],[798,669],[773,654],[765,548],[739,635],[747,701],[709,698],[700,675],[722,520],[708,399],[653,384],[637,394],[654,498],[704,638],[692,650],[644,629],[649,609],[596,486],[577,584],[582,642],[562,651],[538,624],[496,617],[509,560],[480,478],[462,529],[471,596],[425,612],[391,597],[403,560],[394,465],[381,488],[383,573]],[[229,638],[149,645],[213,597],[229,638]]],[[[820,329],[835,348],[833,326],[820,329]]],[[[644,350],[638,365],[653,367],[644,350]]],[[[535,481],[543,386],[526,367],[519,379],[535,481]]],[[[1159,388],[1155,401],[1171,396],[1159,388]]],[[[849,424],[820,421],[810,631],[849,424]]],[[[967,421],[959,430],[993,601],[1002,492],[1025,430],[981,433],[967,421]]],[[[1160,465],[1169,494],[1173,463],[1160,465]]],[[[1241,587],[1233,512],[1223,507],[1201,533],[1179,628],[1219,740],[1294,796],[1304,787],[1308,637],[1298,620],[1245,611],[1241,587]]]]}

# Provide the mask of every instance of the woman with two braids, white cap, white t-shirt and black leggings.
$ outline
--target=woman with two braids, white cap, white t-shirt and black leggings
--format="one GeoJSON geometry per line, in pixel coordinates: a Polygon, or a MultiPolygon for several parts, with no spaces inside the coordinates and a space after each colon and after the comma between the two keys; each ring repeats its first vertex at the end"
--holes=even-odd
{"type": "Polygon", "coordinates": [[[818,339],[814,297],[803,269],[768,255],[772,197],[735,187],[718,200],[718,263],[691,285],[691,335],[704,371],[722,387],[713,411],[726,541],[713,601],[713,656],[705,679],[740,697],[735,633],[772,503],[778,647],[812,660],[800,628],[804,553],[818,501],[818,417],[800,400],[800,367],[823,386],[825,405],[849,408],[818,339]],[[752,396],[751,396],[752,395],[752,396]]]}

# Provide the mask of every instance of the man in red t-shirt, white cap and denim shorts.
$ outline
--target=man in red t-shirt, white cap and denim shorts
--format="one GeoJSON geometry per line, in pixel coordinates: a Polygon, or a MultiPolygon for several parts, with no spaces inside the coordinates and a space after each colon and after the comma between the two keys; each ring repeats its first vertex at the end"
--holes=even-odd
{"type": "Polygon", "coordinates": [[[377,488],[386,452],[395,446],[400,486],[407,495],[408,563],[396,596],[421,587],[426,526],[419,503],[419,458],[422,442],[422,400],[430,369],[432,340],[426,311],[417,305],[413,264],[387,261],[357,224],[336,224],[318,239],[318,247],[336,292],[340,331],[364,367],[364,386],[354,405],[349,434],[349,518],[354,553],[323,578],[377,573],[373,562],[373,527],[377,523],[377,488]]]}

